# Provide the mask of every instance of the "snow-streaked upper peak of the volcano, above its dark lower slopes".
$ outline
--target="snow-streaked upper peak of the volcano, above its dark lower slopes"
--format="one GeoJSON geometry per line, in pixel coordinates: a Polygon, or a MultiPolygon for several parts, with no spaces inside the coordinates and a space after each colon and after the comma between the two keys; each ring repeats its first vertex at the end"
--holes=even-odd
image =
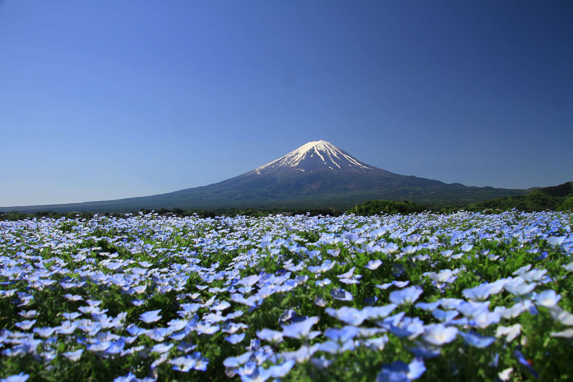
{"type": "Polygon", "coordinates": [[[273,160],[264,166],[250,172],[251,174],[265,174],[269,171],[282,172],[295,170],[296,172],[312,172],[319,168],[340,170],[366,171],[373,168],[356,159],[343,149],[330,142],[319,140],[302,145],[285,156],[273,160]]]}

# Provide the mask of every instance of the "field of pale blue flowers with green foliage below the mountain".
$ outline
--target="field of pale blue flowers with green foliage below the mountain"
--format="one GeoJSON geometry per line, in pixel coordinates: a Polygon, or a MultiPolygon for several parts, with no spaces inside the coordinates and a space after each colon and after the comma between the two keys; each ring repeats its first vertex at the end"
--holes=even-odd
{"type": "Polygon", "coordinates": [[[0,377],[573,379],[573,215],[0,223],[0,377]]]}

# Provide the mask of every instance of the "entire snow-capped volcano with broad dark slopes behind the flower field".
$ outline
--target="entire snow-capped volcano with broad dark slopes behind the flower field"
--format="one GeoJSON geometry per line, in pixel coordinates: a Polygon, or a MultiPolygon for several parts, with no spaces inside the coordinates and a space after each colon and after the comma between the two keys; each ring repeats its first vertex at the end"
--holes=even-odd
{"type": "Polygon", "coordinates": [[[345,208],[372,199],[471,204],[526,190],[468,187],[460,183],[394,174],[371,166],[324,140],[312,141],[273,162],[208,186],[167,194],[100,202],[0,207],[34,212],[115,212],[140,208],[298,207],[345,208]]]}

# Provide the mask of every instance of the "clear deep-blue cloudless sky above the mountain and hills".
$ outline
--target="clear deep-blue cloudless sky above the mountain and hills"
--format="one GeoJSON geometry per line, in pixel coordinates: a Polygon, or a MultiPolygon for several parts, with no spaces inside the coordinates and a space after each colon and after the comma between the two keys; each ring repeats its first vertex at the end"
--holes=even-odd
{"type": "Polygon", "coordinates": [[[573,180],[570,1],[0,2],[0,206],[203,186],[312,140],[573,180]]]}

